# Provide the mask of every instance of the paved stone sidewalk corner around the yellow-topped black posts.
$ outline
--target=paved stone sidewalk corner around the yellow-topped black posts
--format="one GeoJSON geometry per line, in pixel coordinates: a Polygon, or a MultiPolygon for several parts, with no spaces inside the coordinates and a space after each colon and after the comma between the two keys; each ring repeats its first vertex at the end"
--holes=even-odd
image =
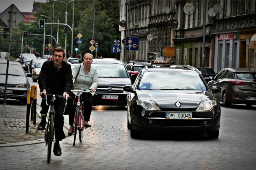
{"type": "MultiPolygon", "coordinates": [[[[27,105],[0,104],[0,147],[12,147],[44,142],[44,131],[38,131],[37,126],[41,121],[40,106],[36,106],[36,125],[29,117],[29,128],[26,133],[27,105]]],[[[66,116],[66,115],[65,115],[66,116]]],[[[66,119],[66,118],[65,118],[66,119]]],[[[67,123],[66,123],[67,124],[67,123]]],[[[68,125],[66,125],[68,127],[68,125]]],[[[65,133],[66,133],[66,128],[65,133]]]]}

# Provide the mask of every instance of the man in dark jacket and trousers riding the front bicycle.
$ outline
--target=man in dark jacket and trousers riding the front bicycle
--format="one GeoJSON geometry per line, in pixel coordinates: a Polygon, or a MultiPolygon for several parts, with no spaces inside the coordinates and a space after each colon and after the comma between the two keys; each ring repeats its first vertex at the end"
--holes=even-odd
{"type": "MultiPolygon", "coordinates": [[[[44,93],[60,95],[65,98],[65,96],[69,97],[70,90],[73,86],[72,81],[72,71],[71,65],[65,62],[65,53],[66,51],[62,47],[57,47],[53,51],[52,58],[53,60],[45,61],[42,65],[41,72],[38,77],[38,84],[40,88],[40,96],[44,93]],[[48,90],[50,92],[48,92],[48,90]]],[[[54,102],[55,109],[55,145],[54,145],[54,155],[60,156],[62,154],[60,149],[59,141],[64,139],[65,133],[63,131],[64,126],[64,117],[63,111],[65,108],[65,101],[62,98],[56,98],[54,102]]],[[[42,106],[42,110],[40,112],[42,114],[42,121],[40,122],[38,129],[45,129],[46,125],[46,115],[48,112],[49,106],[42,106]],[[44,115],[43,115],[44,114],[44,115]]]]}

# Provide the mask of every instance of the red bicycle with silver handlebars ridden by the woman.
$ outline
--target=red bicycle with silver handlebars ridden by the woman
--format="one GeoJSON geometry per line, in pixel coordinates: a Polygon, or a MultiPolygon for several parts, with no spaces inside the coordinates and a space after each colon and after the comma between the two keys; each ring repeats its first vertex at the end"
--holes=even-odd
{"type": "Polygon", "coordinates": [[[76,145],[76,134],[79,131],[79,141],[82,142],[83,140],[83,135],[84,135],[84,102],[80,102],[80,96],[82,92],[88,93],[92,92],[91,90],[89,91],[83,91],[83,90],[71,90],[71,92],[77,92],[77,103],[76,103],[76,111],[75,111],[75,117],[74,117],[74,123],[73,123],[73,128],[74,128],[74,142],[73,146],[76,145]]]}

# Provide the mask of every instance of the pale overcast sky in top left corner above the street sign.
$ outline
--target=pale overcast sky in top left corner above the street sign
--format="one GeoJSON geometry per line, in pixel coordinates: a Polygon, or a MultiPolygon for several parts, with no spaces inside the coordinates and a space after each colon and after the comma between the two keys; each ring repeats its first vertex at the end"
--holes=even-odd
{"type": "MultiPolygon", "coordinates": [[[[46,2],[46,0],[35,0],[35,2],[46,2]]],[[[10,5],[14,4],[20,12],[32,12],[34,0],[0,0],[0,14],[10,5]]]]}

